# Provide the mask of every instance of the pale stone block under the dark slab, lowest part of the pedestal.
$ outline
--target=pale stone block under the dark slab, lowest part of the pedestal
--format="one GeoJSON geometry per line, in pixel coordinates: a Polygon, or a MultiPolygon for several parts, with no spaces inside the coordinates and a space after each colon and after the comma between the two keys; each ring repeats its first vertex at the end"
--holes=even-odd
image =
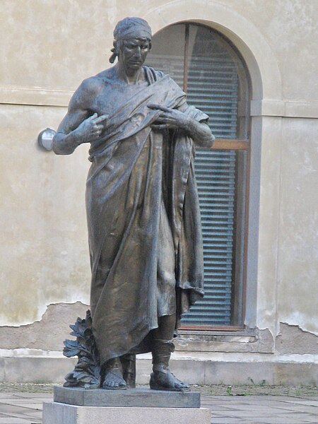
{"type": "Polygon", "coordinates": [[[43,424],[210,424],[207,408],[74,406],[45,402],[43,424]]]}

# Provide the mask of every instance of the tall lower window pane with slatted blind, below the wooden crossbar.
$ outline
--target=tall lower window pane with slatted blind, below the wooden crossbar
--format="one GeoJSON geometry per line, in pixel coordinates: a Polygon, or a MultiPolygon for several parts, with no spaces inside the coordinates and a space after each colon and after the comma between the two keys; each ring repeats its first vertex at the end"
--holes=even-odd
{"type": "Polygon", "coordinates": [[[182,324],[240,325],[246,152],[197,149],[195,171],[204,239],[206,295],[184,314],[182,324]]]}

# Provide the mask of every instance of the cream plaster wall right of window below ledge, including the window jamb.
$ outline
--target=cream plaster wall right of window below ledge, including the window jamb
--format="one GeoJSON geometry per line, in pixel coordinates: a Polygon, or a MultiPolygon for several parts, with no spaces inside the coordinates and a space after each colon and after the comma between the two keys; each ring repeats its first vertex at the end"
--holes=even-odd
{"type": "Polygon", "coordinates": [[[318,333],[317,119],[264,117],[257,326],[318,333]]]}

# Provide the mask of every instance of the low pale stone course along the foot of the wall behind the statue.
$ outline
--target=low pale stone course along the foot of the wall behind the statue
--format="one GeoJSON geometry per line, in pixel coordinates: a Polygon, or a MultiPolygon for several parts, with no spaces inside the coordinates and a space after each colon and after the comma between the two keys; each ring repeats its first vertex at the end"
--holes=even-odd
{"type": "MultiPolygon", "coordinates": [[[[224,353],[224,358],[226,358],[224,353]]],[[[228,360],[171,360],[171,370],[189,384],[266,384],[317,386],[318,364],[312,362],[257,362],[252,360],[235,362],[228,360]]],[[[302,360],[302,355],[298,360],[302,360]]],[[[305,355],[303,355],[305,357],[305,355]]],[[[0,358],[0,380],[19,383],[63,384],[64,375],[73,370],[73,358],[10,357],[0,358]]],[[[137,360],[137,384],[148,384],[151,372],[151,359],[137,360]]]]}

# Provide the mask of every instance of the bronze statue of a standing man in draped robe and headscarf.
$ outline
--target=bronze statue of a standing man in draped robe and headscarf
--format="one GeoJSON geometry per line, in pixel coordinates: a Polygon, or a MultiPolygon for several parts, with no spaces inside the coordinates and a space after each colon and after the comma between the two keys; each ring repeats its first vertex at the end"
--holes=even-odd
{"type": "Polygon", "coordinates": [[[126,388],[120,358],[150,351],[152,389],[189,388],[169,370],[172,339],[204,295],[194,144],[214,137],[170,76],[143,66],[150,49],[145,20],[117,23],[117,64],[81,83],[54,137],[60,155],[90,143],[90,307],[104,389],[126,388]]]}

